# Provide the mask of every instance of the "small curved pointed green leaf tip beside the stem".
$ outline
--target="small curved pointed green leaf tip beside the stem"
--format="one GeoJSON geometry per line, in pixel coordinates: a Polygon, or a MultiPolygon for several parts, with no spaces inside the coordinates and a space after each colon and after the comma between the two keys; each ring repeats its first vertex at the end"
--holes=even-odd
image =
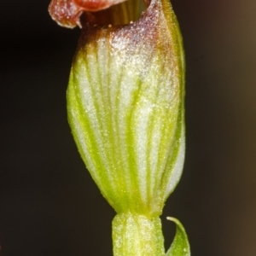
{"type": "Polygon", "coordinates": [[[183,225],[177,218],[167,217],[167,219],[175,222],[176,234],[166,256],[190,256],[189,239],[183,225]]]}

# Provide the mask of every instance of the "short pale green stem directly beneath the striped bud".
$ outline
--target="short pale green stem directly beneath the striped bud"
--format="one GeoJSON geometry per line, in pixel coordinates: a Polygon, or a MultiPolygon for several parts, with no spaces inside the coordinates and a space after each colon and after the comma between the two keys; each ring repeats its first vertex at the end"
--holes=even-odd
{"type": "Polygon", "coordinates": [[[164,237],[159,217],[120,213],[113,218],[114,256],[163,256],[164,237]]]}

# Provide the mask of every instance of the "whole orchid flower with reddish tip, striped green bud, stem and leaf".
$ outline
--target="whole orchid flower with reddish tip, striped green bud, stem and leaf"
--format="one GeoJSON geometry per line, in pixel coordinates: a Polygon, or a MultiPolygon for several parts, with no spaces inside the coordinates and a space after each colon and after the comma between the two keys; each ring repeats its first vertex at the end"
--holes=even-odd
{"type": "Polygon", "coordinates": [[[117,212],[114,256],[189,256],[177,224],[165,253],[160,214],[184,159],[184,58],[168,0],[52,0],[61,26],[80,26],[67,89],[75,143],[117,212]]]}

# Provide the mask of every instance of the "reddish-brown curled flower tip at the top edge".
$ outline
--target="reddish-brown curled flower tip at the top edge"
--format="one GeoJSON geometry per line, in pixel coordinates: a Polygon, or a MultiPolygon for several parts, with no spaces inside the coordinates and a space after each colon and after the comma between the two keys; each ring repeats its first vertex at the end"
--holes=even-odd
{"type": "Polygon", "coordinates": [[[49,15],[59,25],[73,28],[74,26],[81,26],[80,15],[82,15],[83,12],[96,12],[124,1],[125,0],[51,0],[49,3],[49,15]]]}

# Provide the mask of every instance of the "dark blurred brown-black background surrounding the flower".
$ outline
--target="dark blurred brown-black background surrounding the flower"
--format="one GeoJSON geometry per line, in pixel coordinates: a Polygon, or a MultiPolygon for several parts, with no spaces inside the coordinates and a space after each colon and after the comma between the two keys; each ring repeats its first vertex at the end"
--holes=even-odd
{"type": "MultiPolygon", "coordinates": [[[[114,212],[67,125],[79,29],[49,0],[0,2],[0,255],[112,255],[114,212]]],[[[196,256],[256,255],[256,1],[173,0],[187,61],[187,151],[166,202],[196,256]]]]}

